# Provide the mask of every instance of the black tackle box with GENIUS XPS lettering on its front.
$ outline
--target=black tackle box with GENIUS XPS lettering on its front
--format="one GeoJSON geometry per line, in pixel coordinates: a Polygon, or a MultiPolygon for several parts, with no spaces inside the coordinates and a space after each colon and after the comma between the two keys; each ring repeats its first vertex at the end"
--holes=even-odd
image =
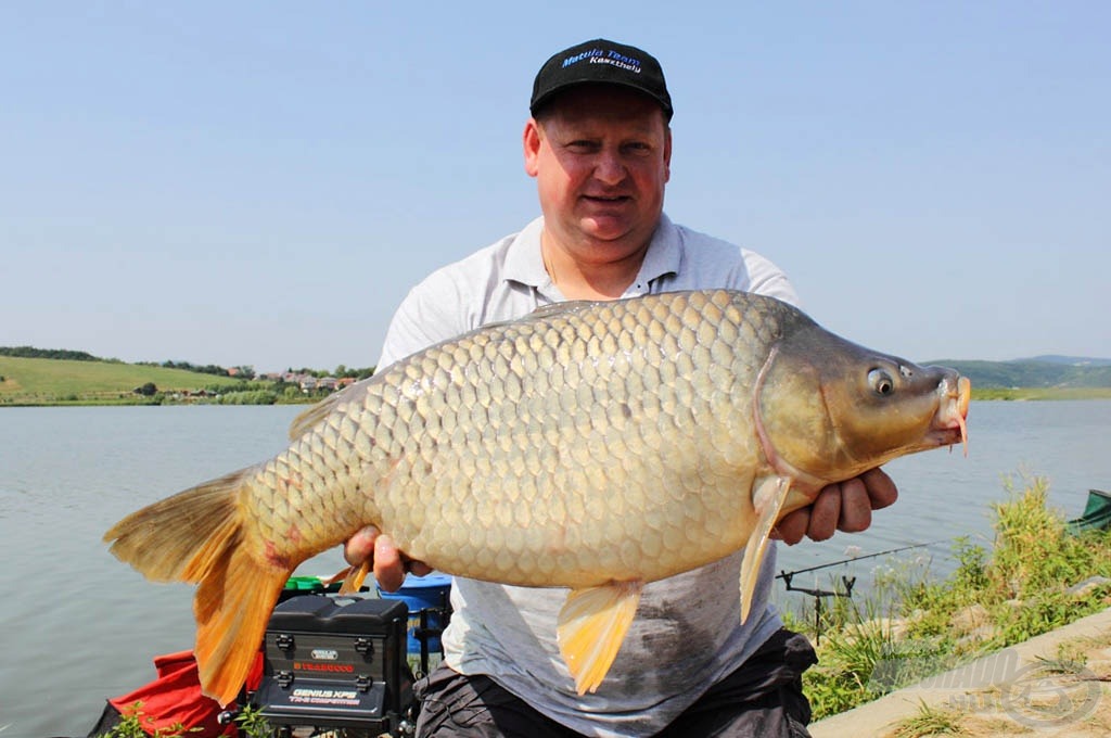
{"type": "Polygon", "coordinates": [[[394,732],[413,704],[408,616],[404,602],[372,597],[303,595],[279,604],[251,701],[274,727],[394,732]]]}

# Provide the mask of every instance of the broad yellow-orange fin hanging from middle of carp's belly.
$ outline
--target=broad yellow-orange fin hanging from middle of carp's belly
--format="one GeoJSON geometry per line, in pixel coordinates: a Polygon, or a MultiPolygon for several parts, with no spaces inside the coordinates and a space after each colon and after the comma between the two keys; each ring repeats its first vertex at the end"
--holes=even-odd
{"type": "Polygon", "coordinates": [[[574,589],[559,611],[559,650],[580,695],[598,689],[637,614],[644,582],[574,589]]]}

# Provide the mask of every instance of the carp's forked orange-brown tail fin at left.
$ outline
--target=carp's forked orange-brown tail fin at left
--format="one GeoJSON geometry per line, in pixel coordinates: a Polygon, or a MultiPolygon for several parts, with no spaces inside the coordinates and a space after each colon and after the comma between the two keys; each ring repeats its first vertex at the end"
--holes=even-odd
{"type": "Polygon", "coordinates": [[[198,584],[196,656],[206,695],[236,699],[297,562],[259,560],[244,546],[241,470],[179,492],[116,523],[111,552],[148,579],[198,584]]]}

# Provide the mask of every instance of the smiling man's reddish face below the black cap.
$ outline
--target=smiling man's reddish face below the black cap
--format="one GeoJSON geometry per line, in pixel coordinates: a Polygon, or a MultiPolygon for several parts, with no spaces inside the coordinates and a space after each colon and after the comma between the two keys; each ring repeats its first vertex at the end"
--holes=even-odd
{"type": "Polygon", "coordinates": [[[647,249],[663,211],[671,130],[651,98],[614,86],[560,94],[524,128],[544,229],[587,261],[647,249]]]}

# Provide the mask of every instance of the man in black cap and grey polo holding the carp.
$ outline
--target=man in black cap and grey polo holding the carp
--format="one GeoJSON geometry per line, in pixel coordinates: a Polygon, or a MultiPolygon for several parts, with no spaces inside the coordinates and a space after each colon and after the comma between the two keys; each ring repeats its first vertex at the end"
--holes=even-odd
{"type": "MultiPolygon", "coordinates": [[[[533,84],[524,169],[542,218],[448,266],[406,298],[380,367],[494,320],[574,299],[617,299],[724,287],[794,302],[783,273],[747,250],[663,215],[671,98],[659,63],[605,40],[553,56],[533,84]]],[[[894,500],[879,470],[823,490],[781,521],[780,537],[862,530],[894,500]]],[[[401,585],[410,562],[368,529],[347,546],[373,557],[379,582],[401,585]]],[[[580,696],[563,666],[556,616],[563,590],[457,578],[444,666],[419,685],[420,736],[804,736],[800,675],[814,661],[768,599],[775,557],[760,572],[742,624],[741,554],[645,586],[637,618],[597,692],[580,696]]]]}

